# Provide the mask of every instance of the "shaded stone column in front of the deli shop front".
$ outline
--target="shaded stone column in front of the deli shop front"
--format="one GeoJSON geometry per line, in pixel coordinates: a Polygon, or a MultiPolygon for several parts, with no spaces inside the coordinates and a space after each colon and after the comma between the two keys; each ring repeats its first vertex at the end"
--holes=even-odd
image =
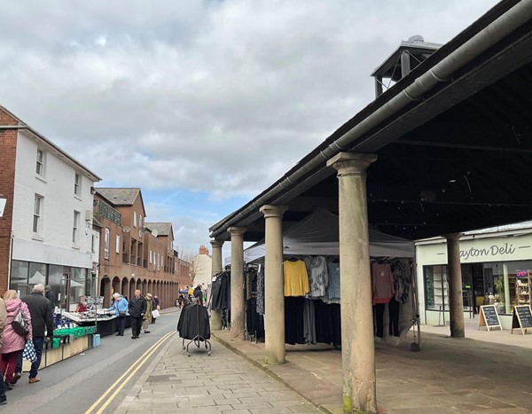
{"type": "Polygon", "coordinates": [[[449,282],[449,319],[451,338],[464,338],[464,297],[462,296],[462,268],[460,266],[460,233],[447,238],[447,278],[449,282]]]}

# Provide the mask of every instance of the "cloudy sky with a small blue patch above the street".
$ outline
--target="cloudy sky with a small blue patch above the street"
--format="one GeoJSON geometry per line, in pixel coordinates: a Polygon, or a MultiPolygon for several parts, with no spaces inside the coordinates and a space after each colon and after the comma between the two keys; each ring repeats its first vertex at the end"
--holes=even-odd
{"type": "MultiPolygon", "coordinates": [[[[0,105],[100,187],[140,187],[175,248],[372,102],[402,40],[447,43],[492,0],[25,0],[0,13],[0,105]]],[[[230,243],[223,246],[224,256],[230,243]]]]}

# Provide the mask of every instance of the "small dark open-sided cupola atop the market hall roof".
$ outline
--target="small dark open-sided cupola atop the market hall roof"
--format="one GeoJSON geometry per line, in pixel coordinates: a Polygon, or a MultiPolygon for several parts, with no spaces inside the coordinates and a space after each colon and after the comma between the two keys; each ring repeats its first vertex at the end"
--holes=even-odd
{"type": "Polygon", "coordinates": [[[429,58],[440,47],[442,45],[439,43],[425,42],[423,36],[420,35],[403,40],[397,50],[372,73],[375,78],[375,98],[382,95],[383,87],[391,88],[395,82],[399,82],[404,76],[410,74],[412,69],[429,58]]]}

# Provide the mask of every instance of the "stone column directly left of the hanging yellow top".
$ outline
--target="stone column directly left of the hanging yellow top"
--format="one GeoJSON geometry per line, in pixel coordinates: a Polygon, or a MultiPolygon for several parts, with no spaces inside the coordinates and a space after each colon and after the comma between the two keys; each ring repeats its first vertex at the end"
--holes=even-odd
{"type": "Polygon", "coordinates": [[[262,206],[266,221],[264,257],[264,332],[266,363],[285,363],[285,293],[283,273],[283,214],[285,206],[262,206]]]}

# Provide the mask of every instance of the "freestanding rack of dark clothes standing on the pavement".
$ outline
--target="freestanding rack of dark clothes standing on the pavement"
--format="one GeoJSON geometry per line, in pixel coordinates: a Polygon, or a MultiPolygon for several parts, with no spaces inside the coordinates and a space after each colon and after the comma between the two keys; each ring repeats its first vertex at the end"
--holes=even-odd
{"type": "Polygon", "coordinates": [[[211,355],[212,348],[210,344],[210,324],[208,320],[207,308],[200,305],[196,298],[192,298],[192,303],[185,306],[179,316],[177,323],[177,331],[183,338],[183,349],[186,349],[186,355],[190,356],[189,346],[194,345],[200,349],[201,342],[205,343],[205,348],[208,349],[207,355],[211,355]],[[184,345],[184,340],[189,342],[184,345]]]}

